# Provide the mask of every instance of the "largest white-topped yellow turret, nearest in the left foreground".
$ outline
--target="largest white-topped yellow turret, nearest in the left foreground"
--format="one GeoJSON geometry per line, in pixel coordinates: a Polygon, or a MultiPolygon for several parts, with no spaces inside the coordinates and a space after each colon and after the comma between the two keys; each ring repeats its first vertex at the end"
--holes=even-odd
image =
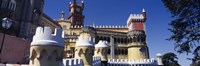
{"type": "Polygon", "coordinates": [[[50,27],[38,27],[30,48],[30,66],[61,66],[64,50],[63,32],[50,27]]]}

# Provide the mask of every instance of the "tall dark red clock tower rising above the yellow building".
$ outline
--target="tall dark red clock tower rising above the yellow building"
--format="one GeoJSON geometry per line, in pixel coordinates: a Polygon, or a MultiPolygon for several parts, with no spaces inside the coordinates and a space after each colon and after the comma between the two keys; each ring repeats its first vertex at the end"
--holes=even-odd
{"type": "Polygon", "coordinates": [[[71,26],[83,26],[84,25],[84,1],[82,0],[81,3],[77,3],[76,0],[70,2],[69,5],[69,17],[68,20],[71,22],[71,26]]]}

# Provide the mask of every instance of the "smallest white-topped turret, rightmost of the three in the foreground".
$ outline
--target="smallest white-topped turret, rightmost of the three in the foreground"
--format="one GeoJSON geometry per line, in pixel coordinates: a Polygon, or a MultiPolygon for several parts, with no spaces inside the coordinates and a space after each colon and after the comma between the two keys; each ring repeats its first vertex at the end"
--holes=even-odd
{"type": "Polygon", "coordinates": [[[101,57],[101,66],[107,66],[107,48],[108,42],[107,41],[99,41],[98,44],[95,45],[95,52],[94,56],[101,57]]]}

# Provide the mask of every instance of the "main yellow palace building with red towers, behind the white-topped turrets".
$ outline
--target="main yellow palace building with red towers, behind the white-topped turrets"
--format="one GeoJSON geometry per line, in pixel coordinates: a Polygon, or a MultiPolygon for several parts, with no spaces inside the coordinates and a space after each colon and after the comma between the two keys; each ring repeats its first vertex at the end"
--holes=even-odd
{"type": "MultiPolygon", "coordinates": [[[[76,41],[81,32],[94,33],[94,43],[100,40],[108,41],[108,58],[113,59],[149,59],[149,50],[146,44],[146,12],[130,14],[127,26],[115,25],[84,25],[84,1],[81,3],[73,0],[69,4],[69,16],[65,18],[62,12],[61,18],[55,20],[65,31],[65,58],[73,58],[76,41]]],[[[125,22],[124,22],[125,23],[125,22]]]]}

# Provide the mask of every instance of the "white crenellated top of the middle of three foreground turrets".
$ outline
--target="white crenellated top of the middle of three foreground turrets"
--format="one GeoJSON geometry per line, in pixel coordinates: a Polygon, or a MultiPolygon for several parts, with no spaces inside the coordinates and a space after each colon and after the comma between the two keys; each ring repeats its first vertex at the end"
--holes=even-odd
{"type": "Polygon", "coordinates": [[[93,39],[89,35],[81,34],[76,41],[76,46],[94,46],[93,39]]]}

